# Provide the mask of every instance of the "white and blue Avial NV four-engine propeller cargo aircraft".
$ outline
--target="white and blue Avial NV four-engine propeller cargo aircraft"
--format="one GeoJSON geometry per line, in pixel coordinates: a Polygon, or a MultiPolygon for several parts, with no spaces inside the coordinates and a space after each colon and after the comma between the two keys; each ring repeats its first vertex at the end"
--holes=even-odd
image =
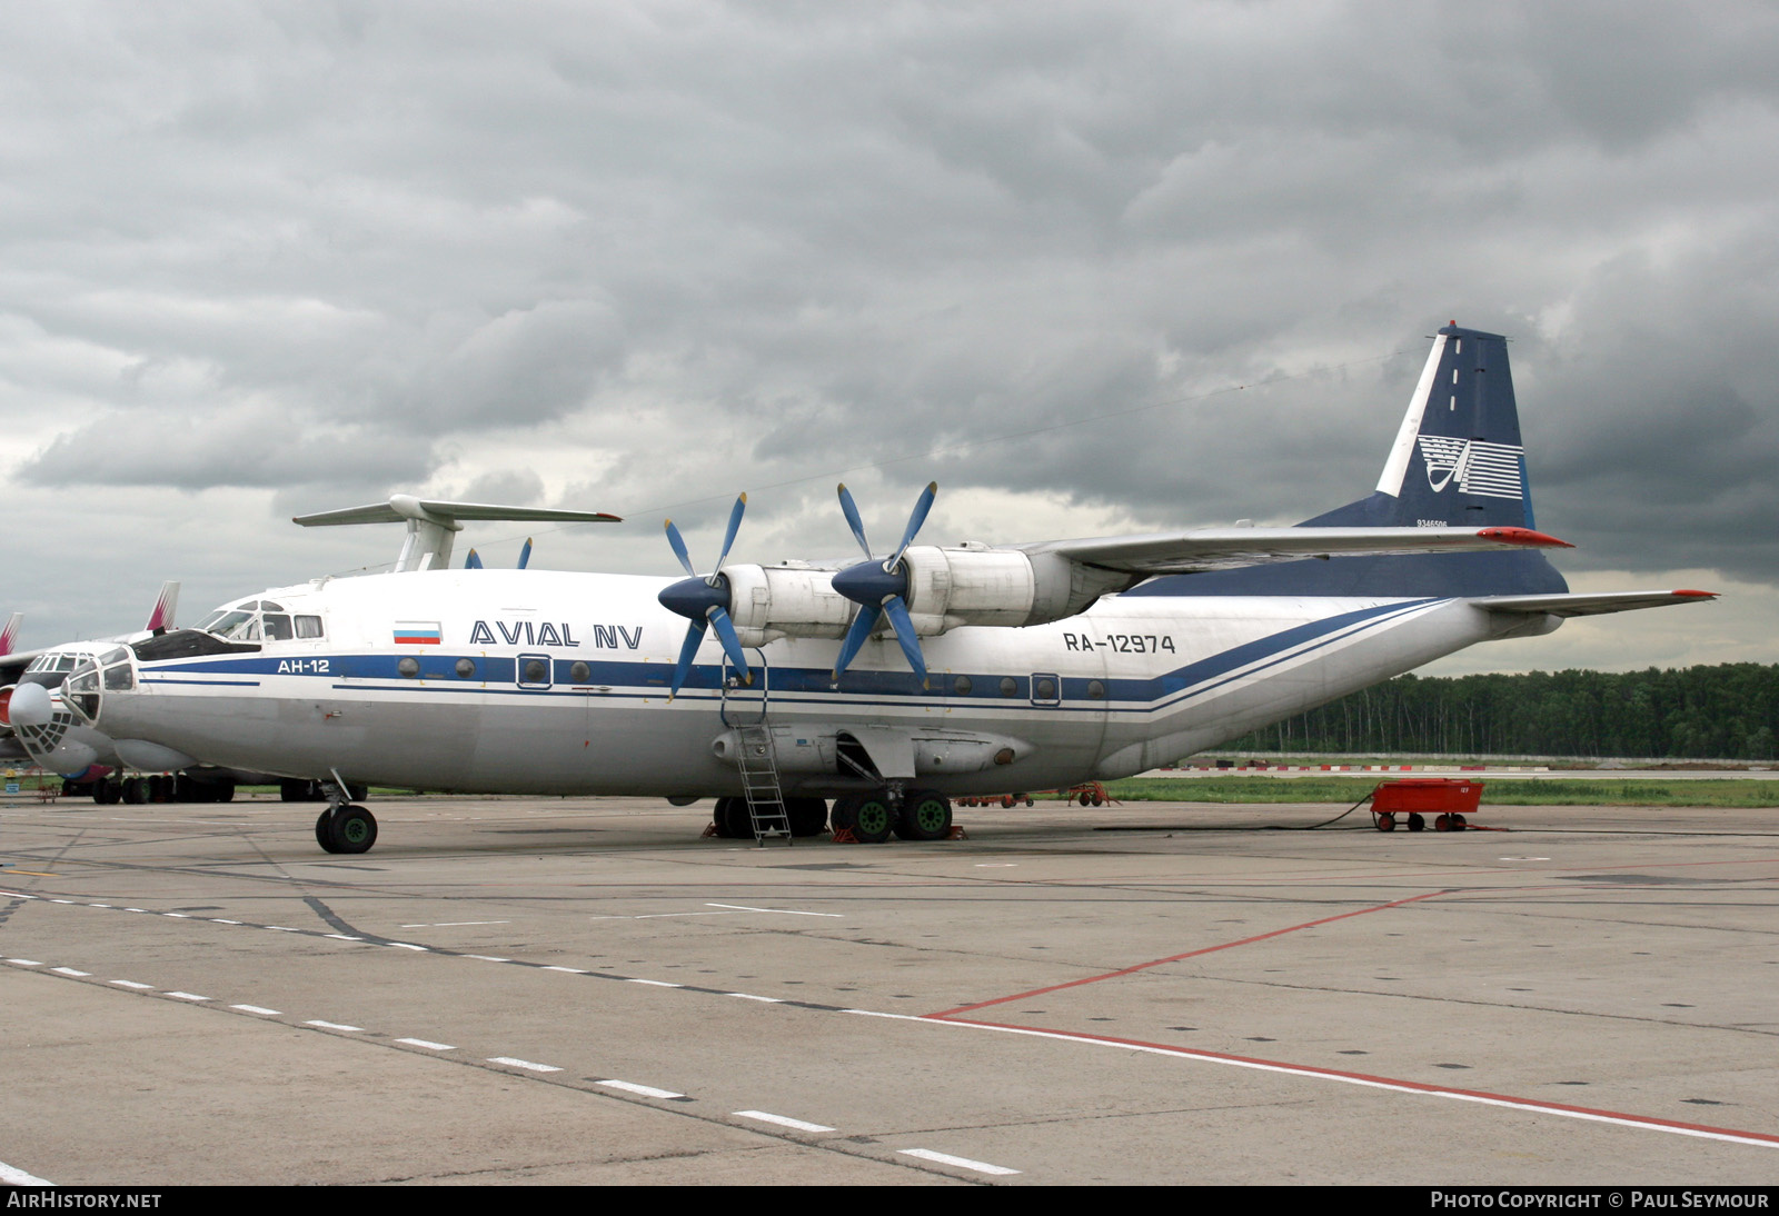
{"type": "MultiPolygon", "coordinates": [[[[306,516],[406,521],[397,571],[240,599],[100,654],[62,699],[142,761],[324,780],[329,852],[375,841],[359,782],[715,796],[733,836],[934,839],[950,796],[1139,773],[1477,642],[1711,597],[1569,592],[1507,341],[1455,324],[1377,489],[1292,528],[914,544],[934,492],[882,556],[841,487],[850,565],[729,562],[744,496],[704,574],[667,524],[678,581],[447,569],[461,519],[539,517],[518,508],[306,516]]],[[[14,720],[41,711],[14,695],[14,720]]]]}

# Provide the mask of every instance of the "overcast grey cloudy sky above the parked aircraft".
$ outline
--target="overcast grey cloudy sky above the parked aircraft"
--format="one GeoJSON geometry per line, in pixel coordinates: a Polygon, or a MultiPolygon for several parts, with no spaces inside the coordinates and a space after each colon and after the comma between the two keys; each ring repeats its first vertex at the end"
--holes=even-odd
{"type": "MultiPolygon", "coordinates": [[[[1578,590],[1436,670],[1779,661],[1768,4],[0,9],[25,645],[375,569],[393,491],[674,572],[1363,496],[1446,320],[1514,338],[1578,590]]],[[[461,553],[461,549],[459,549],[461,553]]]]}

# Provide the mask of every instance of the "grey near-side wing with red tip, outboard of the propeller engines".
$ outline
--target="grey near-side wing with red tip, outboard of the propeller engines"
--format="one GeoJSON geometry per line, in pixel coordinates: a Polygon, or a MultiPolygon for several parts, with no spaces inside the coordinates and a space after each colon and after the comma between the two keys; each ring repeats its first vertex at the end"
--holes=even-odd
{"type": "Polygon", "coordinates": [[[1146,537],[1041,540],[1010,548],[1032,556],[1055,553],[1082,565],[1147,578],[1316,556],[1574,546],[1532,528],[1188,528],[1146,537]]]}

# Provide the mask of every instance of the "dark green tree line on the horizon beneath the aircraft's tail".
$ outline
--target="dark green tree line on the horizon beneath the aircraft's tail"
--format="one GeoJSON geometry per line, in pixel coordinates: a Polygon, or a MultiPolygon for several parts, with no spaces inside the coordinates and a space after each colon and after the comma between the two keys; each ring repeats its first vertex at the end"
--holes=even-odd
{"type": "Polygon", "coordinates": [[[1219,750],[1774,759],[1779,665],[1398,676],[1219,750]]]}

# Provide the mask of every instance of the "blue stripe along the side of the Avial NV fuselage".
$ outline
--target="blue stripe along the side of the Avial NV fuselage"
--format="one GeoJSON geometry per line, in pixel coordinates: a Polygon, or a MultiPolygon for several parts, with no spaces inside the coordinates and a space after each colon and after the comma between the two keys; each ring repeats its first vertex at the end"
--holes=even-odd
{"type": "MultiPolygon", "coordinates": [[[[770,668],[772,702],[792,704],[909,704],[909,702],[964,702],[996,704],[1003,711],[1057,713],[1153,713],[1176,700],[1199,697],[1215,688],[1222,688],[1256,672],[1288,663],[1302,654],[1334,645],[1348,636],[1386,624],[1397,617],[1414,613],[1429,604],[1443,603],[1437,597],[1395,601],[1372,608],[1357,608],[1334,617],[1309,620],[1279,633],[1270,633],[1254,642],[1244,642],[1228,651],[1195,660],[1171,672],[1142,677],[1103,677],[1103,676],[1067,676],[1062,679],[1064,706],[1030,704],[1030,676],[1012,676],[1012,695],[1000,695],[1002,672],[954,672],[945,679],[966,676],[973,684],[968,697],[950,695],[946,688],[936,686],[922,690],[913,672],[847,672],[843,686],[831,686],[829,672],[809,667],[774,667],[770,668]],[[1105,697],[1089,697],[1087,686],[1099,683],[1105,697]],[[1137,709],[1115,709],[1112,702],[1139,702],[1137,709]]],[[[717,700],[722,688],[722,665],[694,665],[681,697],[688,700],[717,700]],[[703,693],[703,695],[701,695],[703,693]]],[[[455,692],[473,692],[477,695],[500,697],[587,697],[605,699],[658,699],[667,692],[672,667],[667,663],[635,663],[624,660],[584,660],[557,658],[551,661],[551,679],[555,688],[519,686],[516,681],[518,660],[489,658],[480,654],[327,654],[294,656],[279,660],[276,656],[251,658],[215,658],[199,661],[169,660],[164,667],[142,667],[142,683],[160,684],[224,684],[258,686],[260,681],[229,679],[189,679],[173,676],[215,674],[215,676],[297,676],[326,679],[338,692],[423,692],[448,695],[455,692]],[[402,676],[397,663],[407,658],[420,660],[420,672],[415,677],[402,676]],[[459,676],[457,661],[468,658],[473,670],[468,677],[459,676]],[[327,670],[313,670],[326,661],[327,670]],[[279,665],[301,667],[302,670],[279,672],[279,665]],[[573,674],[575,663],[587,663],[587,676],[573,674]],[[160,674],[169,672],[169,674],[160,674]],[[365,683],[340,683],[365,681],[365,683]],[[592,686],[610,692],[600,692],[592,686]]]]}

